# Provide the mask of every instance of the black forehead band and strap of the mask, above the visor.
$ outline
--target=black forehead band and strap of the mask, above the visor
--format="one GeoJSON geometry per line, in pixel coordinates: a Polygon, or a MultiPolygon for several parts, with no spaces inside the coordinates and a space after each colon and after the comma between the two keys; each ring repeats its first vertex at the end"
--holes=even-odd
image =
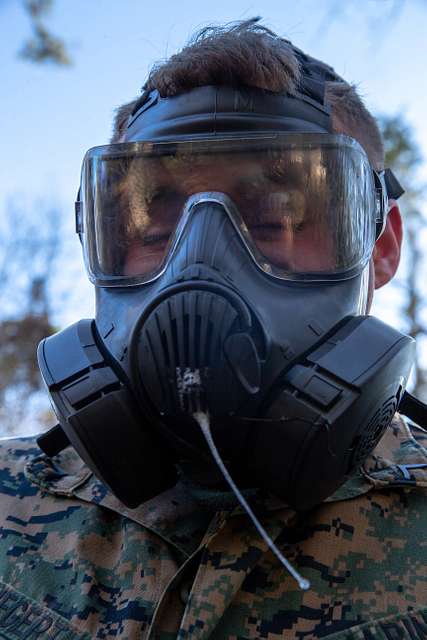
{"type": "Polygon", "coordinates": [[[240,131],[332,132],[326,83],[343,79],[332,67],[287,44],[301,72],[295,95],[255,87],[204,86],[162,97],[157,90],[145,89],[129,118],[127,139],[240,131]]]}

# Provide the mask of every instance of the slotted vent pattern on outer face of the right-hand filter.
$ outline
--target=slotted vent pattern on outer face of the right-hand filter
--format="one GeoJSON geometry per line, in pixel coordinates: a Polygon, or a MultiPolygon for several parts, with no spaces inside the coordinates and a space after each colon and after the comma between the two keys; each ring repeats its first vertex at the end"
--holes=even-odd
{"type": "Polygon", "coordinates": [[[348,474],[358,469],[375,449],[384,435],[385,430],[391,423],[397,411],[398,404],[397,396],[388,398],[374,413],[363,433],[355,438],[352,446],[353,453],[347,471],[348,474]]]}

